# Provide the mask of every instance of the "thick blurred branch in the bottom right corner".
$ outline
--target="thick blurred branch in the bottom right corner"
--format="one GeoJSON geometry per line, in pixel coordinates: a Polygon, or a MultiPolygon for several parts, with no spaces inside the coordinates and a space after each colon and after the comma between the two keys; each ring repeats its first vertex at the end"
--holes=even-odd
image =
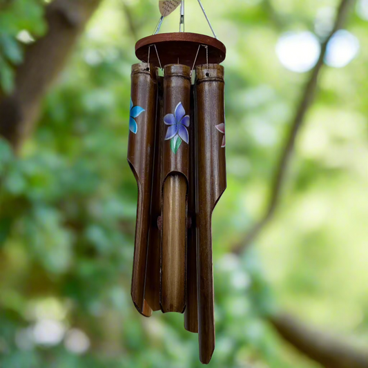
{"type": "Polygon", "coordinates": [[[304,325],[287,314],[274,316],[271,325],[302,354],[326,368],[368,368],[368,352],[304,325]]]}

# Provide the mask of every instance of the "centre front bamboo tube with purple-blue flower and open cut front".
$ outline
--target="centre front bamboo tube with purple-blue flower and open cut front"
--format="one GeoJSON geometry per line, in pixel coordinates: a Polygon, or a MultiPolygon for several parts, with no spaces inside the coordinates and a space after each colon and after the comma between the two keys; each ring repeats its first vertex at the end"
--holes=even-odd
{"type": "Polygon", "coordinates": [[[189,176],[191,69],[164,70],[161,309],[184,313],[186,303],[186,195],[189,176]]]}

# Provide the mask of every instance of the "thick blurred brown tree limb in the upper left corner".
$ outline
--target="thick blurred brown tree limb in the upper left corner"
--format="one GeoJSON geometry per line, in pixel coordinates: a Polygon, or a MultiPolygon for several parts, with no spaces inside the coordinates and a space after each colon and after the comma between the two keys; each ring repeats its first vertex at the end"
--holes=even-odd
{"type": "Polygon", "coordinates": [[[54,0],[46,8],[48,32],[30,45],[17,69],[14,92],[0,99],[0,135],[19,148],[39,116],[41,99],[101,0],[54,0]]]}

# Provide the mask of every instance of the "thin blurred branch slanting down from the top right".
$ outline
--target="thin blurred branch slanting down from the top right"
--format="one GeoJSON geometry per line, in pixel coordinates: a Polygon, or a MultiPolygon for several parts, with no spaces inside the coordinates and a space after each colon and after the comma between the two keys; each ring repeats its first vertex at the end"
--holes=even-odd
{"type": "Polygon", "coordinates": [[[269,203],[267,204],[267,209],[261,219],[256,222],[253,227],[251,227],[244,240],[235,245],[233,249],[234,253],[241,253],[247,246],[249,246],[251,242],[253,242],[253,240],[260,234],[260,231],[262,231],[264,226],[269,223],[273,215],[275,215],[275,211],[278,208],[280,197],[282,195],[282,187],[287,177],[289,164],[294,153],[296,137],[300,132],[300,128],[302,127],[309,108],[311,107],[314,97],[316,96],[318,77],[322,67],[325,65],[324,60],[327,52],[327,44],[335,32],[342,28],[342,25],[345,23],[347,15],[349,14],[349,10],[354,2],[355,0],[342,0],[340,3],[333,29],[331,30],[329,37],[327,37],[327,39],[325,39],[325,41],[321,44],[320,57],[316,66],[311,71],[309,80],[304,88],[304,93],[302,93],[298,108],[296,109],[296,115],[293,117],[290,123],[290,130],[287,134],[278,165],[276,166],[275,173],[273,175],[271,195],[269,198],[269,203]]]}

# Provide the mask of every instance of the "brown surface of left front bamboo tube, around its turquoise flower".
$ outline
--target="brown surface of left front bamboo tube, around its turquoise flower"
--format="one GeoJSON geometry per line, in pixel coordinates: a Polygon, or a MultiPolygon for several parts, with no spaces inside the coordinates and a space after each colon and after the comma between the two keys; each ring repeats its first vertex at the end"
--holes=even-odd
{"type": "Polygon", "coordinates": [[[155,67],[135,64],[132,67],[131,98],[134,106],[144,112],[135,118],[137,132],[129,133],[128,162],[138,186],[137,224],[135,228],[135,251],[131,296],[135,307],[144,316],[152,310],[144,301],[148,233],[151,227],[151,188],[153,177],[153,147],[155,143],[157,82],[155,67]],[[149,70],[147,70],[147,68],[149,70]]]}

